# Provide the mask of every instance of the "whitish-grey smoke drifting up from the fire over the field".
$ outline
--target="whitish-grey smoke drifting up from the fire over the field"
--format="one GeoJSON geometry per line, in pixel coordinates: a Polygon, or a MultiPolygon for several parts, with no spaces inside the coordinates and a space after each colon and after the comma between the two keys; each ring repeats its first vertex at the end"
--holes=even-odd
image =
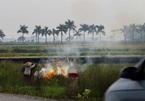
{"type": "MultiPolygon", "coordinates": [[[[93,45],[90,44],[90,47],[87,51],[92,51],[93,45]]],[[[52,69],[57,69],[57,74],[62,74],[62,68],[65,66],[65,73],[63,75],[68,75],[70,72],[83,72],[89,64],[93,62],[90,59],[88,53],[86,53],[83,58],[85,59],[85,63],[81,61],[80,57],[82,57],[82,50],[87,49],[81,43],[74,44],[65,44],[61,45],[61,47],[56,47],[57,55],[54,57],[48,57],[47,60],[41,60],[39,66],[41,67],[40,71],[35,72],[35,76],[45,77],[52,69]],[[57,64],[58,61],[61,61],[57,64]]],[[[87,52],[86,51],[86,52],[87,52]]]]}

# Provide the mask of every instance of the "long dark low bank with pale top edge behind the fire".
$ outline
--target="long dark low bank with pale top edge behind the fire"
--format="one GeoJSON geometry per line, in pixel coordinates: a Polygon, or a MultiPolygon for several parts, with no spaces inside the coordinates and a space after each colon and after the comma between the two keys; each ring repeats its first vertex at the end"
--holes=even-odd
{"type": "MultiPolygon", "coordinates": [[[[145,55],[109,55],[109,56],[68,56],[70,60],[76,60],[78,62],[86,63],[86,62],[93,62],[93,63],[101,63],[104,62],[103,59],[107,62],[112,63],[136,63],[144,58],[145,55]]],[[[15,62],[45,62],[45,60],[52,60],[52,59],[64,59],[66,56],[25,56],[25,57],[0,57],[0,61],[2,60],[13,60],[15,62]]]]}

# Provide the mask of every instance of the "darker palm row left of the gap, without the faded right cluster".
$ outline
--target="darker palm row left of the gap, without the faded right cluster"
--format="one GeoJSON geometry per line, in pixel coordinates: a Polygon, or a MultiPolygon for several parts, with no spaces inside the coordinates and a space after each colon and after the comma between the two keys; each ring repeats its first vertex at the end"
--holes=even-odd
{"type": "MultiPolygon", "coordinates": [[[[88,25],[88,24],[80,24],[80,28],[76,28],[76,25],[74,21],[68,20],[65,21],[64,24],[59,24],[56,28],[49,29],[49,27],[45,26],[42,28],[40,25],[36,25],[32,34],[36,36],[36,42],[39,43],[39,38],[40,36],[45,36],[45,42],[47,43],[48,37],[53,36],[53,42],[56,41],[56,36],[60,36],[61,43],[63,42],[63,36],[64,34],[68,35],[66,40],[69,42],[73,39],[80,38],[83,36],[83,42],[86,41],[86,37],[89,34],[92,34],[92,40],[94,40],[94,35],[100,35],[100,40],[101,40],[101,35],[105,35],[104,31],[105,27],[103,25],[88,25]],[[73,33],[73,35],[71,35],[73,33]],[[86,35],[86,33],[88,33],[86,35]]],[[[28,26],[26,25],[20,25],[20,29],[17,31],[17,33],[22,33],[20,37],[18,37],[18,41],[24,42],[25,34],[29,34],[28,31],[28,26]]]]}

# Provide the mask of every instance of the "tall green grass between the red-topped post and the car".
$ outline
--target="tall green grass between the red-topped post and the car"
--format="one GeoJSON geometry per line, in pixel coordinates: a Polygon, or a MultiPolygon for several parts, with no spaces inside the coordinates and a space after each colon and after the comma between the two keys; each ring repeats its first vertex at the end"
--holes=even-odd
{"type": "Polygon", "coordinates": [[[84,72],[79,73],[79,92],[85,89],[91,90],[88,101],[103,101],[105,91],[119,79],[122,68],[134,66],[134,64],[94,64],[88,66],[84,72]]]}

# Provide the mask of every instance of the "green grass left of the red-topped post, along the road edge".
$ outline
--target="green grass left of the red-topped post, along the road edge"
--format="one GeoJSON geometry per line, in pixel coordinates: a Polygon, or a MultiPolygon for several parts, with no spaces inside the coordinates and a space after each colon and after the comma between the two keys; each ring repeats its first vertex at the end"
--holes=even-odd
{"type": "Polygon", "coordinates": [[[1,61],[0,63],[0,91],[7,93],[25,94],[32,96],[41,96],[47,98],[61,99],[67,97],[67,80],[51,80],[48,84],[43,78],[34,81],[34,78],[27,81],[23,79],[21,72],[22,63],[11,61],[1,61]]]}

